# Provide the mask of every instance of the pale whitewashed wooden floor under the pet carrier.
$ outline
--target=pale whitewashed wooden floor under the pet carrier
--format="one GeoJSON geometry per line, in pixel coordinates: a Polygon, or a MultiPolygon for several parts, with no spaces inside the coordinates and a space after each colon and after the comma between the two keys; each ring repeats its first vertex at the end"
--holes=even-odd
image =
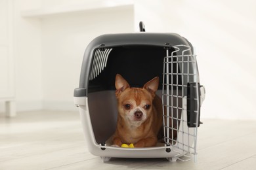
{"type": "Polygon", "coordinates": [[[198,161],[118,159],[87,151],[79,112],[20,112],[0,117],[0,169],[256,169],[256,122],[202,120],[198,161]]]}

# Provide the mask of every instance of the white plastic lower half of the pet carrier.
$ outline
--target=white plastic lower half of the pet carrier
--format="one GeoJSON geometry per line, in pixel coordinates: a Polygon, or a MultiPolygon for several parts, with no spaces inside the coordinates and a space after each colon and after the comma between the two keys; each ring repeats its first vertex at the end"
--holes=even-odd
{"type": "MultiPolygon", "coordinates": [[[[156,146],[147,148],[121,148],[108,144],[102,146],[96,143],[91,124],[87,97],[74,97],[74,103],[79,107],[83,133],[87,142],[87,148],[91,154],[100,156],[102,161],[109,161],[110,158],[167,158],[169,161],[187,161],[196,160],[196,131],[195,128],[189,128],[186,124],[186,110],[182,110],[182,121],[179,125],[177,142],[170,146],[156,146]],[[167,152],[169,151],[169,152],[167,152]],[[182,158],[181,158],[182,157],[182,158]]],[[[183,99],[183,108],[186,108],[186,98],[183,99]]]]}

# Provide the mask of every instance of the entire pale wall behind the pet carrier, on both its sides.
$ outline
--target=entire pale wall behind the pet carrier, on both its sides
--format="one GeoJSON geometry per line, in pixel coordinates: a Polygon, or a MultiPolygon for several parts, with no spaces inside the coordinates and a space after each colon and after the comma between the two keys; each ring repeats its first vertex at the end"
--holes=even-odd
{"type": "Polygon", "coordinates": [[[42,20],[18,14],[28,4],[60,7],[85,0],[26,1],[15,1],[20,110],[22,103],[40,101],[38,109],[75,109],[73,90],[88,42],[104,33],[138,31],[142,20],[146,31],[179,33],[196,46],[206,88],[203,118],[256,119],[256,1],[139,0],[134,10],[92,10],[42,20]]]}

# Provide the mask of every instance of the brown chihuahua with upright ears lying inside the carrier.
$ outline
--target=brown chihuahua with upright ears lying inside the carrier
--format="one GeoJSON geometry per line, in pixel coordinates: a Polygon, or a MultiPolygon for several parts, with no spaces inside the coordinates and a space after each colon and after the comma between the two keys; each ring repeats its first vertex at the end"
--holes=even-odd
{"type": "Polygon", "coordinates": [[[156,146],[163,125],[161,99],[156,95],[158,84],[159,78],[155,77],[143,88],[131,88],[121,75],[116,75],[118,116],[112,146],[156,146]]]}

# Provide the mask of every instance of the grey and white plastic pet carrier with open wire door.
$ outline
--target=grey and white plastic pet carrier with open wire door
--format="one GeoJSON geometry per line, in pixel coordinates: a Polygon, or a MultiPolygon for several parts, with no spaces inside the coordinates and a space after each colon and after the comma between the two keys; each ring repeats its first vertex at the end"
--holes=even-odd
{"type": "Polygon", "coordinates": [[[103,161],[112,157],[176,161],[196,155],[204,95],[194,48],[184,37],[176,33],[121,33],[101,35],[89,43],[74,102],[79,107],[89,151],[103,161]],[[167,115],[163,115],[165,143],[149,148],[111,146],[109,139],[117,121],[117,73],[132,87],[142,87],[155,76],[160,77],[157,93],[163,107],[167,107],[167,115]],[[169,136],[173,133],[177,137],[169,136]]]}

